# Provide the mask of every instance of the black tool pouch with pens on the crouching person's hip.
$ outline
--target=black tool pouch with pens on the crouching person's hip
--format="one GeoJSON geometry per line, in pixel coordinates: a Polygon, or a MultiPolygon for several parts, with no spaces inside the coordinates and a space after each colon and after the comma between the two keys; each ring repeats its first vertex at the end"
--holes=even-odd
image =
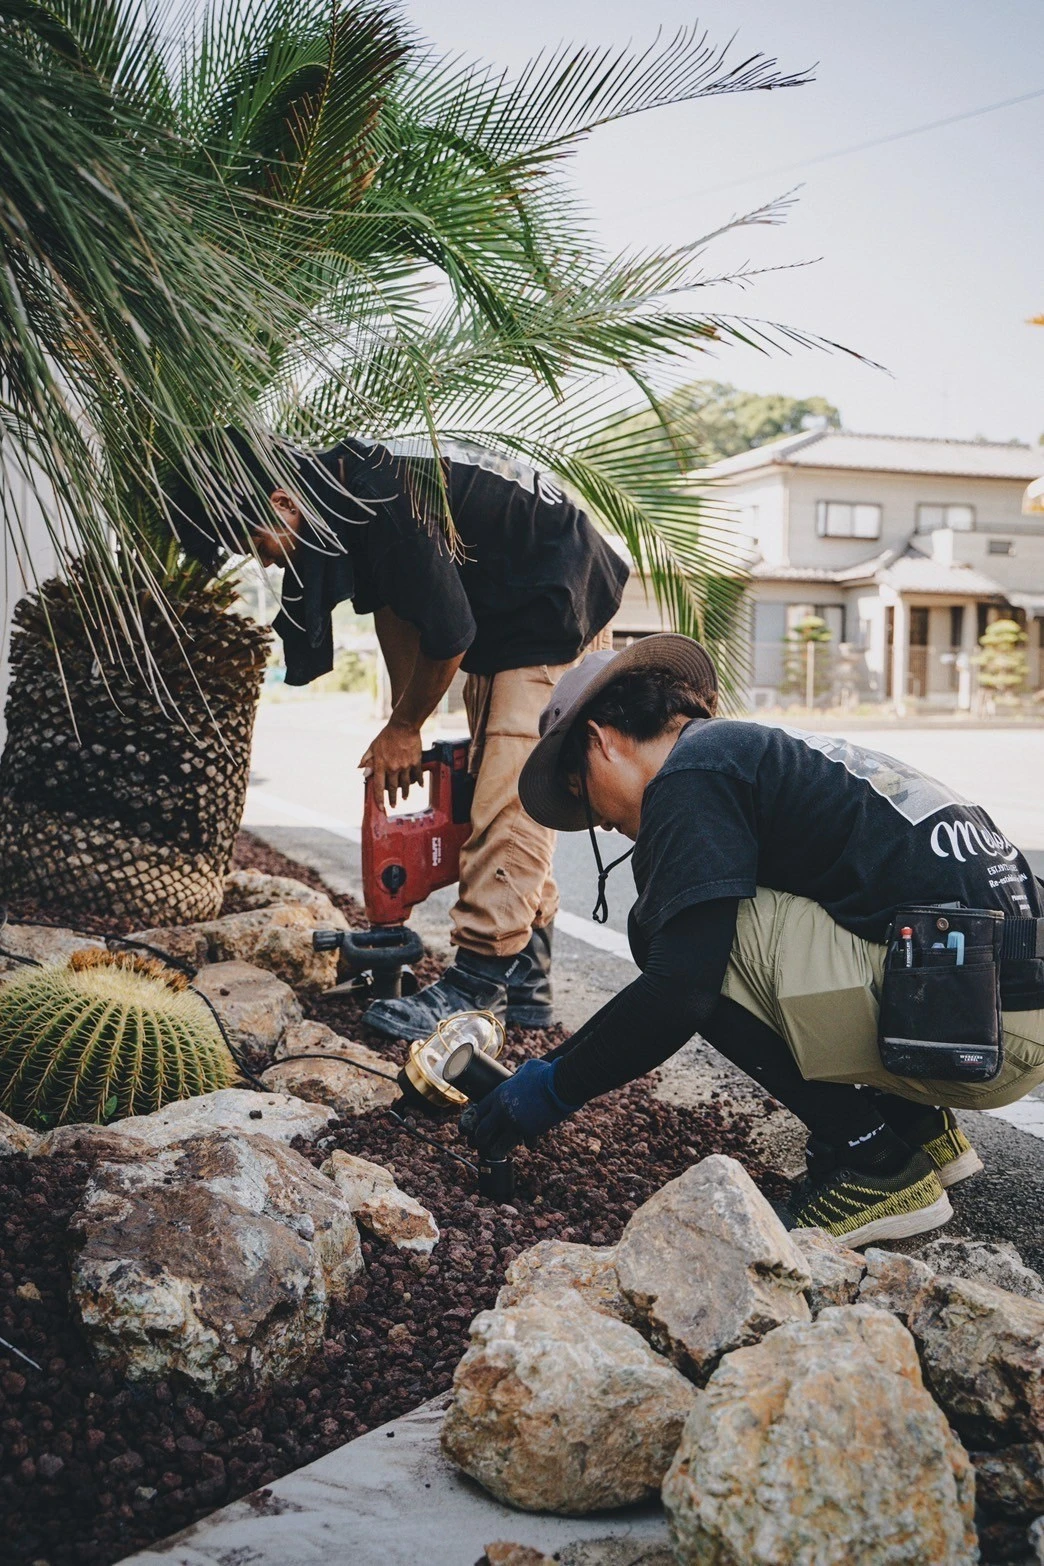
{"type": "Polygon", "coordinates": [[[997,1076],[1003,1063],[1002,940],[1003,915],[989,908],[897,910],[878,1024],[886,1071],[945,1082],[997,1076]],[[900,936],[903,929],[913,932],[909,941],[900,936]]]}

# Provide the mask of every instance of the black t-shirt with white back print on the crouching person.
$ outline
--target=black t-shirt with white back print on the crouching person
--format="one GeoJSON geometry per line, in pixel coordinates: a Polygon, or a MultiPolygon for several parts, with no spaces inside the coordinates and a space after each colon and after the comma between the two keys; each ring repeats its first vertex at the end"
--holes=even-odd
{"type": "Polygon", "coordinates": [[[645,940],[758,886],[809,897],[869,941],[906,902],[1044,915],[1022,853],[955,789],[845,739],[728,719],[682,731],[645,791],[632,866],[645,940]]]}

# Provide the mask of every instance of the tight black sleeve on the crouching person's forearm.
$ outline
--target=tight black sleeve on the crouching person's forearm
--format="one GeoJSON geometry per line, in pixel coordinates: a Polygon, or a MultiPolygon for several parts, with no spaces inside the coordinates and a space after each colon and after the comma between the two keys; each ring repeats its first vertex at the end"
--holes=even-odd
{"type": "Polygon", "coordinates": [[[546,1059],[557,1059],[554,1090],[567,1104],[645,1076],[706,1023],[722,993],[737,897],[682,910],[653,936],[645,971],[546,1059]]]}

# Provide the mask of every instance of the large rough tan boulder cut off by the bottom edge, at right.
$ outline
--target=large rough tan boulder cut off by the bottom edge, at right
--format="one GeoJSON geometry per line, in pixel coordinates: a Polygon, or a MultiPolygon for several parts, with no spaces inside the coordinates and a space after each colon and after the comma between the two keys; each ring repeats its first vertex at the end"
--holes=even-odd
{"type": "Polygon", "coordinates": [[[894,1315],[831,1306],[728,1355],[664,1481],[684,1566],[972,1566],[972,1467],[894,1315]]]}

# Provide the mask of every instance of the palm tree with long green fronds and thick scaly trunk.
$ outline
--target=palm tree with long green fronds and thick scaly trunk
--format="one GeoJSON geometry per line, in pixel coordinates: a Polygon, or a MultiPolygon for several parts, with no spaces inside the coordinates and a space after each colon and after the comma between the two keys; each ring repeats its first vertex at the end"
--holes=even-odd
{"type": "MultiPolygon", "coordinates": [[[[216,907],[265,639],[178,553],[161,495],[188,460],[219,490],[227,424],[272,471],[269,429],[529,456],[679,628],[726,630],[728,518],[665,471],[664,392],[723,338],[808,338],[695,309],[706,240],[603,255],[562,168],[612,119],[800,80],[692,31],[512,80],[371,0],[214,3],[180,39],[135,0],[20,0],[0,38],[0,407],[66,572],[13,645],[8,891],[149,921],[216,907]],[[604,438],[626,388],[654,440],[604,438]]],[[[438,464],[418,457],[418,482],[438,489],[438,464]]]]}

